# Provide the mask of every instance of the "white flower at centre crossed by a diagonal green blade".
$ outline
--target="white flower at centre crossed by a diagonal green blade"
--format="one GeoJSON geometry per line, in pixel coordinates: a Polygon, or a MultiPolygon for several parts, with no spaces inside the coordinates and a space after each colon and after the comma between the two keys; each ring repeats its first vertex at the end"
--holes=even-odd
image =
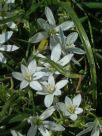
{"type": "MultiPolygon", "coordinates": [[[[45,56],[41,56],[41,58],[44,58],[45,56]]],[[[51,57],[50,59],[52,61],[54,61],[55,63],[61,65],[61,66],[65,66],[67,65],[71,59],[73,57],[73,54],[69,53],[67,55],[65,55],[64,57],[61,58],[61,46],[59,44],[57,44],[53,49],[52,49],[52,52],[51,52],[51,57]]],[[[56,71],[49,63],[46,63],[46,62],[43,62],[41,61],[41,63],[45,66],[45,69],[47,69],[46,71],[47,74],[46,75],[50,75],[50,74],[59,74],[58,71],[56,71]]]]}

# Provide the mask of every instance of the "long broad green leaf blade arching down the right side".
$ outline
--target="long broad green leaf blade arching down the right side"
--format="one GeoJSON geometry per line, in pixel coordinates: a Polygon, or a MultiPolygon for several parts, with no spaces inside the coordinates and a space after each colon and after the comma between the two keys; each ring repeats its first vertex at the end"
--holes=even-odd
{"type": "Polygon", "coordinates": [[[70,15],[70,17],[74,21],[74,24],[79,32],[80,39],[83,43],[84,49],[86,51],[87,59],[90,66],[90,73],[91,73],[91,80],[92,80],[92,87],[93,87],[93,100],[94,100],[94,103],[96,104],[96,100],[97,100],[96,68],[95,68],[94,56],[93,56],[89,39],[74,9],[72,7],[67,7],[67,6],[64,6],[63,8],[68,12],[68,15],[70,15]]]}

